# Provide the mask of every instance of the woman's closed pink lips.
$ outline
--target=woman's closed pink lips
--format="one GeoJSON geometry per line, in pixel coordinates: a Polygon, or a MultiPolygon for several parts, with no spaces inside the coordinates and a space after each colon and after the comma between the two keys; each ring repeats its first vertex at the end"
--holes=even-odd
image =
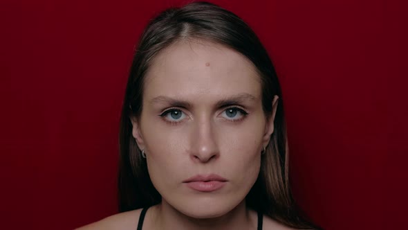
{"type": "Polygon", "coordinates": [[[226,182],[228,182],[227,179],[216,174],[196,175],[183,181],[187,187],[200,192],[212,192],[219,190],[225,185],[226,182]]]}

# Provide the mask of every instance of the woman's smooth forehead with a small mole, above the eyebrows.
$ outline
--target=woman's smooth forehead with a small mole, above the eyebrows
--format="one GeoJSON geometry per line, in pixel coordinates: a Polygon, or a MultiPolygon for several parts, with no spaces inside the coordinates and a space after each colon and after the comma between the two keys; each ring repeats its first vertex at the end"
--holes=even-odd
{"type": "Polygon", "coordinates": [[[261,96],[256,68],[237,51],[209,42],[177,42],[161,51],[145,78],[144,98],[215,100],[234,94],[261,96]]]}

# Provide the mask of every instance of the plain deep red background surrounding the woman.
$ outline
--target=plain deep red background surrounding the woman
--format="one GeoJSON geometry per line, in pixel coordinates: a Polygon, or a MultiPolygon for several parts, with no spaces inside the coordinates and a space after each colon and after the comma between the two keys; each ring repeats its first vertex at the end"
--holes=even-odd
{"type": "MultiPolygon", "coordinates": [[[[1,1],[1,229],[116,212],[133,48],[185,1],[1,1]]],[[[295,197],[325,229],[403,229],[407,8],[396,0],[213,1],[254,28],[284,90],[295,197]]]]}

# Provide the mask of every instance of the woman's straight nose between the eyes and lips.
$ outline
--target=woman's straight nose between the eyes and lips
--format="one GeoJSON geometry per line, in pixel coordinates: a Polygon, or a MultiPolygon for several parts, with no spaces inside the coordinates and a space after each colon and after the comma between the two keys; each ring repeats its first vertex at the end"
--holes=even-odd
{"type": "Polygon", "coordinates": [[[219,148],[211,121],[199,121],[192,127],[190,157],[193,161],[206,163],[219,157],[219,148]]]}

